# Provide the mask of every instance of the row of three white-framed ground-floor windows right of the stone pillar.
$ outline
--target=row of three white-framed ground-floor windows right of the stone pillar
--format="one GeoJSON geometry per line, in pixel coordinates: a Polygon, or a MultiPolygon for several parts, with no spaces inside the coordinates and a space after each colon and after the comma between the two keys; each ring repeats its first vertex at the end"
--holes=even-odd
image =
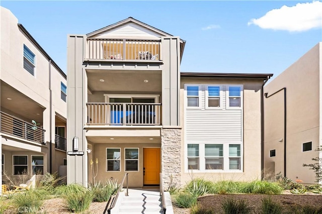
{"type": "Polygon", "coordinates": [[[187,144],[186,169],[200,171],[241,170],[241,144],[187,144]]]}

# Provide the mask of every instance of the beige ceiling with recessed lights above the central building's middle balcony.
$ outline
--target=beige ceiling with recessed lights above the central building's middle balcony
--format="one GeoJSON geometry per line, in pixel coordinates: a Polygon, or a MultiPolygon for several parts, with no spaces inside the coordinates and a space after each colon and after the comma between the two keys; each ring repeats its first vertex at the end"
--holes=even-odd
{"type": "Polygon", "coordinates": [[[87,78],[92,91],[162,91],[161,71],[87,70],[87,78]]]}

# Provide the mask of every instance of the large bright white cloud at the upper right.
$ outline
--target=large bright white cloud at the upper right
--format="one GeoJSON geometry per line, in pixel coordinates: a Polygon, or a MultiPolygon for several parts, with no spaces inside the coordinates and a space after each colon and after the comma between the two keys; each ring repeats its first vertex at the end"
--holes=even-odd
{"type": "Polygon", "coordinates": [[[289,32],[307,31],[322,27],[322,2],[298,3],[293,7],[282,6],[259,19],[252,19],[248,25],[263,29],[286,30],[289,32]]]}

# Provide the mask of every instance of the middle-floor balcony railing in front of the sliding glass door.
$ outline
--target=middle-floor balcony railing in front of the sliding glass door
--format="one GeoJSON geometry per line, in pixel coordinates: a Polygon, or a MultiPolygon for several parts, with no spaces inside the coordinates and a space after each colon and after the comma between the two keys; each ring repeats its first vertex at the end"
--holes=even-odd
{"type": "Polygon", "coordinates": [[[88,125],[160,125],[160,103],[87,103],[88,125]]]}

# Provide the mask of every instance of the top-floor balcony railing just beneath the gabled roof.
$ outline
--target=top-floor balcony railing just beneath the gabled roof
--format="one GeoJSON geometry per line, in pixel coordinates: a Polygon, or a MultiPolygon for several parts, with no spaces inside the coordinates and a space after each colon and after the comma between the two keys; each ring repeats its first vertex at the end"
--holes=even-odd
{"type": "Polygon", "coordinates": [[[160,60],[161,40],[87,39],[87,60],[160,60]]]}

